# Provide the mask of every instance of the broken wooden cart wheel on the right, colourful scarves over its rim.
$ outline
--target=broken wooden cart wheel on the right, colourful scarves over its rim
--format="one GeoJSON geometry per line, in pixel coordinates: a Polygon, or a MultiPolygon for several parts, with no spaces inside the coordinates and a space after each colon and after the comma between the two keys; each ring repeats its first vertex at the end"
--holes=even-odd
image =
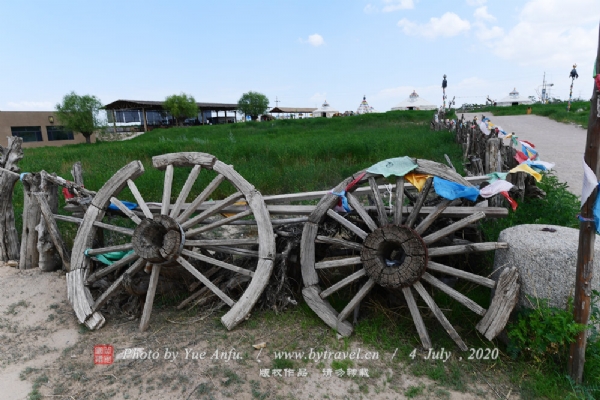
{"type": "MultiPolygon", "coordinates": [[[[414,172],[438,176],[440,178],[472,186],[455,171],[428,160],[414,160],[418,168],[414,172]]],[[[417,308],[413,290],[424,300],[426,305],[464,351],[467,346],[454,327],[444,316],[440,308],[427,291],[423,283],[435,287],[469,308],[483,319],[477,329],[489,340],[504,328],[510,311],[516,303],[518,294],[516,269],[505,269],[498,283],[494,280],[473,273],[452,268],[434,261],[439,256],[466,254],[506,248],[506,243],[452,243],[439,246],[440,239],[473,224],[485,217],[482,211],[470,211],[451,224],[431,232],[432,224],[451,205],[449,200],[442,200],[435,207],[424,208],[425,199],[432,186],[429,178],[419,193],[412,207],[401,207],[404,200],[405,180],[403,177],[391,177],[393,187],[393,206],[386,206],[380,195],[379,185],[385,180],[382,175],[360,171],[340,183],[332,193],[325,195],[309,222],[304,226],[301,242],[301,265],[304,299],[313,311],[338,333],[348,336],[353,326],[346,321],[348,316],[359,305],[373,288],[384,287],[390,291],[402,293],[417,328],[423,347],[432,347],[427,329],[417,308]],[[334,207],[338,203],[338,195],[347,191],[345,196],[353,211],[338,213],[334,207]],[[368,207],[358,200],[362,192],[374,199],[374,206],[368,207]],[[332,228],[336,224],[336,228],[332,228]],[[323,231],[345,231],[344,237],[324,235],[323,231]],[[321,231],[321,232],[320,232],[321,231]],[[433,247],[438,246],[438,247],[433,247]],[[338,249],[338,254],[330,252],[323,256],[322,247],[338,249]],[[341,254],[340,254],[341,253],[341,254]],[[332,255],[333,254],[333,255],[332,255]],[[489,309],[477,303],[443,283],[434,275],[442,273],[468,280],[495,290],[495,297],[489,309]],[[349,293],[343,309],[338,312],[330,304],[330,296],[343,289],[349,293]]]]}

